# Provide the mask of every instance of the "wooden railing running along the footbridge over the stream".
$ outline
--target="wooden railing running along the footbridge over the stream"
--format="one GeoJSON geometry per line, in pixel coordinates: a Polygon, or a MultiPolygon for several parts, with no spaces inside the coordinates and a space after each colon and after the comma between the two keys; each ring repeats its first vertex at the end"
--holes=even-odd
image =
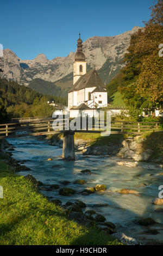
{"type": "MultiPolygon", "coordinates": [[[[72,119],[71,119],[72,120],[72,119]]],[[[71,121],[69,120],[69,121],[71,121]]],[[[33,121],[21,121],[20,123],[8,123],[0,124],[0,138],[2,137],[23,137],[23,136],[38,136],[48,135],[53,133],[64,132],[67,126],[68,119],[60,119],[63,122],[63,126],[58,126],[58,130],[53,130],[54,119],[39,119],[33,121]]],[[[103,122],[103,125],[106,125],[103,122]]],[[[160,131],[161,127],[159,123],[147,123],[147,122],[129,122],[129,121],[111,121],[111,133],[120,134],[128,133],[133,135],[141,135],[147,131],[160,131]]],[[[92,132],[100,133],[103,129],[99,128],[99,124],[93,122],[92,127],[89,127],[86,123],[86,127],[83,127],[82,119],[80,121],[80,129],[75,132],[92,132]]]]}

